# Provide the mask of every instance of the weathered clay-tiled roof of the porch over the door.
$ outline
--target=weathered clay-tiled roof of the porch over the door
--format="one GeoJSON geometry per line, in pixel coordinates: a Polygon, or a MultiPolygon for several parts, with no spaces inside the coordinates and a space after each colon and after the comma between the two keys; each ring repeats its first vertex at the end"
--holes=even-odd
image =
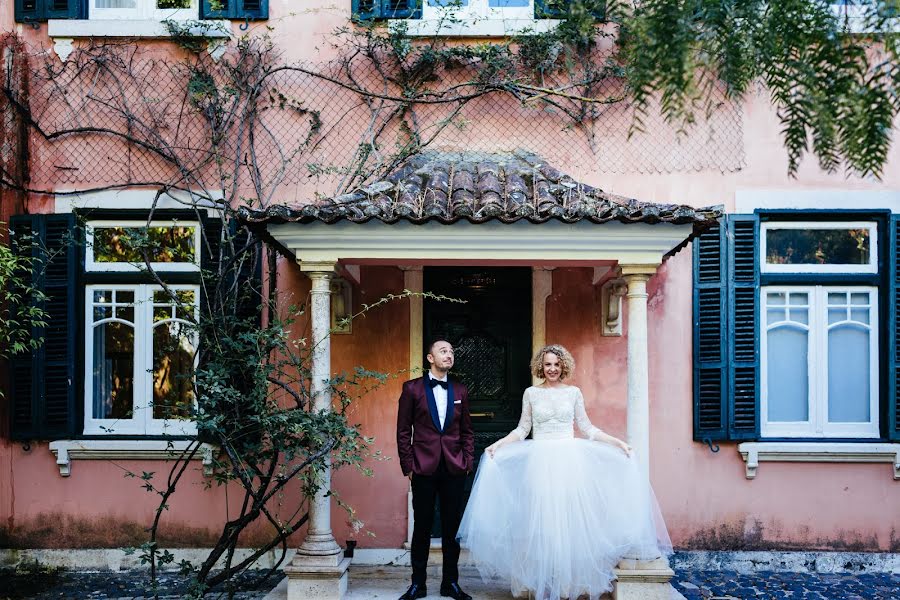
{"type": "Polygon", "coordinates": [[[312,204],[241,209],[245,222],[258,225],[618,221],[693,224],[694,233],[721,215],[721,206],[693,208],[610,194],[531,154],[443,152],[416,155],[384,179],[312,204]]]}

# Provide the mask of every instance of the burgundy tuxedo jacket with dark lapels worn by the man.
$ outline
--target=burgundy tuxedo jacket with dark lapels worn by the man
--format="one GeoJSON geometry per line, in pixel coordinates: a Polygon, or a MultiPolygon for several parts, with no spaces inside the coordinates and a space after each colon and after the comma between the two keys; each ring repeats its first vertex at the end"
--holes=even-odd
{"type": "Polygon", "coordinates": [[[472,470],[475,438],[469,415],[469,392],[458,381],[449,380],[447,414],[441,429],[437,405],[427,375],[403,384],[397,412],[397,451],[404,475],[432,475],[441,462],[453,475],[472,470]]]}

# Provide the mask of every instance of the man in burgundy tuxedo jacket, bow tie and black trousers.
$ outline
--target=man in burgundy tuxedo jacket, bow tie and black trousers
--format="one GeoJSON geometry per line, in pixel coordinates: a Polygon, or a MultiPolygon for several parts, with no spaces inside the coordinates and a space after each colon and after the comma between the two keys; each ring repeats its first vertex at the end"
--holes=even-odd
{"type": "Polygon", "coordinates": [[[403,474],[412,481],[412,585],[400,600],[428,595],[425,568],[431,547],[434,501],[441,503],[441,549],[444,554],[441,596],[472,600],[459,588],[459,542],[456,531],[463,511],[463,486],[472,471],[475,438],[466,386],[447,378],[453,346],[435,340],[428,347],[424,377],[403,384],[397,413],[397,451],[403,474]]]}

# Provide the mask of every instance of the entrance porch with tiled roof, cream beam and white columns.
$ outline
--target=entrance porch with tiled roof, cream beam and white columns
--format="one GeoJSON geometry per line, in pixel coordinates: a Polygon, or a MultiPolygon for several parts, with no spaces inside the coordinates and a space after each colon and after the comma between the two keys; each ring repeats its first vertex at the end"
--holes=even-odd
{"type": "MultiPolygon", "coordinates": [[[[383,180],[307,205],[241,209],[241,218],[291,253],[312,280],[316,410],[331,409],[325,385],[331,373],[329,294],[338,263],[402,266],[404,283],[414,292],[422,291],[421,265],[531,265],[528,300],[538,317],[552,288],[548,267],[617,265],[627,288],[628,442],[648,476],[647,280],[721,214],[721,207],[696,209],[608,194],[533,155],[473,153],[422,154],[383,180]]],[[[410,298],[411,357],[422,347],[421,331],[416,337],[413,325],[421,320],[421,298],[410,298]]],[[[536,347],[542,336],[533,335],[536,347]]],[[[289,600],[339,599],[346,590],[349,559],[342,558],[331,533],[330,470],[324,477],[325,487],[310,504],[306,539],[285,569],[289,600]]],[[[633,580],[634,598],[651,597],[641,587],[646,585],[659,588],[652,598],[670,597],[672,571],[660,560],[622,567],[620,590],[633,580]]]]}

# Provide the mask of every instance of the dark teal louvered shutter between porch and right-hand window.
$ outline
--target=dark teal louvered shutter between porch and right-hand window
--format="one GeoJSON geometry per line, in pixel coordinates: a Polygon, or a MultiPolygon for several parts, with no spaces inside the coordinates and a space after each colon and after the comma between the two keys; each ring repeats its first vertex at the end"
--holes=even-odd
{"type": "Polygon", "coordinates": [[[758,219],[729,215],[694,242],[694,439],[759,437],[758,219]]]}

